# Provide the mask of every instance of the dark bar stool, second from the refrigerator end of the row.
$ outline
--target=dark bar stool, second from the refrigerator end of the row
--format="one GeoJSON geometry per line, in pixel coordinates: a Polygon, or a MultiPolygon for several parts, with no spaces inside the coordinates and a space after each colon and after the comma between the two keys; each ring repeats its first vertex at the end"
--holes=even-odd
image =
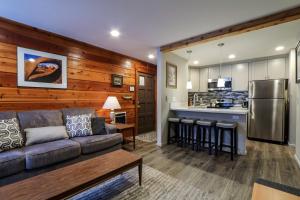
{"type": "MultiPolygon", "coordinates": [[[[205,148],[205,144],[208,143],[208,153],[211,154],[212,147],[216,146],[211,142],[211,135],[212,135],[212,129],[216,128],[216,121],[214,120],[197,120],[195,122],[197,126],[197,134],[196,134],[196,144],[197,144],[197,150],[202,148],[205,148]],[[206,134],[208,134],[208,141],[206,140],[206,134]]],[[[216,132],[216,131],[215,131],[216,132]]]]}

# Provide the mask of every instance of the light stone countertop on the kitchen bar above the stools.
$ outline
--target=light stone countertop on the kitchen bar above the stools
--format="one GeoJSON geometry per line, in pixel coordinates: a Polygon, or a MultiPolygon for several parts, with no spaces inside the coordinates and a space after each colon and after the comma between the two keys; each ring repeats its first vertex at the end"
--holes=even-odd
{"type": "Polygon", "coordinates": [[[238,115],[247,115],[248,109],[242,107],[232,107],[229,109],[222,108],[202,108],[202,107],[193,107],[193,106],[174,106],[171,107],[172,111],[184,111],[184,112],[205,112],[205,113],[220,113],[220,114],[238,114],[238,115]]]}

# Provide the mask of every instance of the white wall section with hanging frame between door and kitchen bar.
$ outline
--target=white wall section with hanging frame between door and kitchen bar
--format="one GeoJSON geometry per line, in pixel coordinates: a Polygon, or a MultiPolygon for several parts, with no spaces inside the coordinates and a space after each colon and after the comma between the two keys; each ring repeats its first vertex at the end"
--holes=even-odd
{"type": "Polygon", "coordinates": [[[188,103],[188,62],[173,53],[161,53],[158,50],[157,55],[157,145],[162,146],[167,142],[170,103],[188,103]],[[166,87],[166,62],[177,65],[176,89],[166,87]]]}

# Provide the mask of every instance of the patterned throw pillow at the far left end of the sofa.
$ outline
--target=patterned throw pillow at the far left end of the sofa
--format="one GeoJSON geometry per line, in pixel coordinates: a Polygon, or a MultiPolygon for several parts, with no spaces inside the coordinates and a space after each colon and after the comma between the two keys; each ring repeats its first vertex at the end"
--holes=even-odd
{"type": "Polygon", "coordinates": [[[23,137],[16,118],[0,120],[0,152],[22,147],[23,137]]]}

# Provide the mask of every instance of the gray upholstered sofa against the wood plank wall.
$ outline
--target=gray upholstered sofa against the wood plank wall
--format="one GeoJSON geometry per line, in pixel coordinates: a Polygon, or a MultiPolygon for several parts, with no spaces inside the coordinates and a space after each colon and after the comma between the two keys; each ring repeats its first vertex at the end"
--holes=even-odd
{"type": "MultiPolygon", "coordinates": [[[[66,115],[92,114],[90,108],[0,112],[0,120],[17,118],[24,140],[24,129],[63,126],[66,115]]],[[[122,134],[105,124],[106,134],[61,139],[0,152],[0,186],[89,159],[122,147],[122,134]]],[[[101,163],[99,163],[101,164],[101,163]]]]}

